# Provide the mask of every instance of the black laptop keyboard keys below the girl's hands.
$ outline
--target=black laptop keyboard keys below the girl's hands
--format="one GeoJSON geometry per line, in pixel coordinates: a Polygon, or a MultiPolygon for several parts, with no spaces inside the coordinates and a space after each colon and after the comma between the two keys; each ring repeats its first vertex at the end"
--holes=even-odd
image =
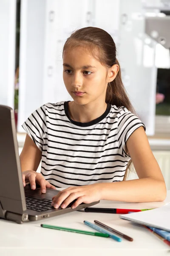
{"type": "Polygon", "coordinates": [[[37,211],[37,212],[44,212],[47,210],[51,210],[54,207],[51,206],[52,200],[48,199],[37,199],[31,198],[26,196],[26,207],[27,209],[37,211]]]}

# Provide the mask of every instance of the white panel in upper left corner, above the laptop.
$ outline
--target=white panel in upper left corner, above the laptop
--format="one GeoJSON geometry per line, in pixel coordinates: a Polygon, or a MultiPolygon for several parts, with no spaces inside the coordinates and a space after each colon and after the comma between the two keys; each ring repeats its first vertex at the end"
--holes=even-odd
{"type": "Polygon", "coordinates": [[[0,104],[14,108],[16,0],[0,0],[0,104]]]}

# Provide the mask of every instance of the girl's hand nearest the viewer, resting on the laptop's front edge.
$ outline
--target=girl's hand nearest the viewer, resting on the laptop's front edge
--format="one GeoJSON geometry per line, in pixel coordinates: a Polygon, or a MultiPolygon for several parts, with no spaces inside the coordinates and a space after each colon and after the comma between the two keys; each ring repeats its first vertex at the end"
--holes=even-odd
{"type": "Polygon", "coordinates": [[[61,206],[66,208],[75,199],[76,202],[71,206],[71,208],[76,208],[79,204],[85,203],[89,204],[101,199],[101,184],[91,184],[86,186],[71,186],[67,189],[60,191],[57,195],[52,198],[51,205],[54,208],[61,206]]]}

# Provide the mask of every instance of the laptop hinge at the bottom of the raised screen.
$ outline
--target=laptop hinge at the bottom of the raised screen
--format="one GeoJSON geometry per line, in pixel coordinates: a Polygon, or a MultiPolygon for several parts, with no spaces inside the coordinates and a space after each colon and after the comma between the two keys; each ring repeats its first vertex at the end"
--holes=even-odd
{"type": "Polygon", "coordinates": [[[15,213],[15,212],[8,212],[3,209],[2,204],[0,203],[0,218],[9,220],[9,221],[15,221],[18,224],[22,224],[23,222],[28,221],[28,214],[23,213],[15,213]]]}

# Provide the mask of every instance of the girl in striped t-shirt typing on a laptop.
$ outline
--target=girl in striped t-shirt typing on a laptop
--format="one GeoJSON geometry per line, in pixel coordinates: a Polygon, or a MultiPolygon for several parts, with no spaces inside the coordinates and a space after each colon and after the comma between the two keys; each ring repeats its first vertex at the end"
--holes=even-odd
{"type": "Polygon", "coordinates": [[[95,27],[74,32],[63,48],[63,80],[73,101],[47,103],[23,124],[24,186],[66,187],[55,208],[75,199],[72,208],[101,199],[163,201],[164,178],[122,84],[111,35],[95,27]],[[137,180],[125,180],[131,160],[137,180]]]}

